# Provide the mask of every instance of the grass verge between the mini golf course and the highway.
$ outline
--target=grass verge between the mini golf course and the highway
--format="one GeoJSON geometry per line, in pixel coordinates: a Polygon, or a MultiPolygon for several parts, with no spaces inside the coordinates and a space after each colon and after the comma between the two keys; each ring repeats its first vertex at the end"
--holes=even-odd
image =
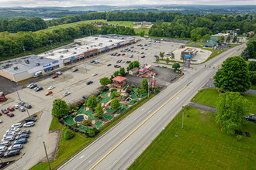
{"type": "MultiPolygon", "coordinates": [[[[137,108],[145,104],[148,100],[150,100],[154,96],[155,94],[150,94],[150,97],[144,98],[143,100],[138,101],[135,106],[128,108],[125,113],[120,114],[119,117],[116,117],[112,121],[109,121],[109,123],[103,125],[99,129],[100,132],[97,136],[95,136],[95,138],[98,138],[101,134],[108,131],[109,128],[112,128],[119,121],[123,120],[126,116],[131,114],[134,110],[137,110],[137,108]]],[[[63,129],[63,128],[64,126],[58,122],[58,119],[56,117],[54,117],[50,124],[50,130],[57,130],[57,129],[63,129]]],[[[85,135],[75,133],[74,138],[72,138],[71,140],[65,140],[62,135],[59,151],[57,153],[57,159],[53,162],[50,162],[51,168],[55,169],[61,164],[63,164],[65,161],[67,161],[68,158],[71,158],[72,155],[76,154],[82,148],[85,148],[88,144],[90,144],[93,140],[95,140],[95,138],[85,138],[85,135]]],[[[47,170],[47,169],[49,169],[47,162],[39,163],[33,166],[33,168],[30,168],[30,170],[47,170]]]]}

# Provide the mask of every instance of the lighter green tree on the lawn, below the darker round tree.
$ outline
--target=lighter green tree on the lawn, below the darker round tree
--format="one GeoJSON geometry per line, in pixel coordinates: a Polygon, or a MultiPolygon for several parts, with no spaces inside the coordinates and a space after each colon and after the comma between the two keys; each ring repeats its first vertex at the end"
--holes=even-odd
{"type": "Polygon", "coordinates": [[[221,131],[234,134],[244,123],[244,115],[248,114],[248,100],[238,92],[221,93],[216,107],[216,124],[221,126],[221,131]]]}

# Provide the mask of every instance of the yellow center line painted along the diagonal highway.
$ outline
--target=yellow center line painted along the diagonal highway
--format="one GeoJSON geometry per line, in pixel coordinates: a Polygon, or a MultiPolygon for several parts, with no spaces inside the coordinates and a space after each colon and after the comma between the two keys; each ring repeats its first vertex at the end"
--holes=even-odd
{"type": "Polygon", "coordinates": [[[135,131],[137,131],[143,124],[145,124],[151,117],[154,116],[154,114],[157,114],[157,112],[159,110],[161,110],[162,107],[164,107],[166,104],[168,104],[172,99],[174,99],[179,93],[181,93],[183,90],[185,90],[185,88],[187,88],[187,86],[183,87],[181,90],[179,90],[177,93],[175,93],[175,95],[173,97],[171,97],[169,100],[167,100],[164,104],[162,104],[160,107],[157,108],[157,110],[155,110],[152,114],[150,114],[142,123],[140,123],[135,129],[133,129],[133,131],[131,131],[129,134],[126,135],[126,137],[124,137],[123,139],[121,139],[121,141],[119,141],[116,145],[114,145],[109,151],[106,152],[105,155],[102,155],[101,158],[98,159],[97,162],[95,162],[92,166],[90,166],[90,168],[88,169],[94,169],[96,168],[105,158],[107,158],[112,151],[115,151],[116,148],[119,147],[119,145],[121,145],[124,141],[126,141],[127,138],[129,138],[135,131]]]}

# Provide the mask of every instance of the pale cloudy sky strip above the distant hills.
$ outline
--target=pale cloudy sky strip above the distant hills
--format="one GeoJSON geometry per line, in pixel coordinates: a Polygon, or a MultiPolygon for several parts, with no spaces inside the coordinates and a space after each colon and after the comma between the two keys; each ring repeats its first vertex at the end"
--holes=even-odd
{"type": "Polygon", "coordinates": [[[0,0],[0,7],[87,6],[87,5],[256,5],[255,0],[0,0]]]}

